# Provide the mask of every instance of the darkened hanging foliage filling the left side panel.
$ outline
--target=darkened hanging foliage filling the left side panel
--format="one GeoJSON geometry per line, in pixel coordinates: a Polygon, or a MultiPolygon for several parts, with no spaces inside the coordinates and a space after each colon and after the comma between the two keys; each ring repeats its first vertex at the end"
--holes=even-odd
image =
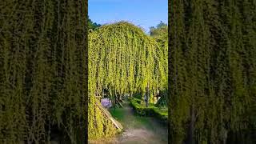
{"type": "Polygon", "coordinates": [[[86,8],[0,2],[0,143],[86,142],[86,8]]]}

